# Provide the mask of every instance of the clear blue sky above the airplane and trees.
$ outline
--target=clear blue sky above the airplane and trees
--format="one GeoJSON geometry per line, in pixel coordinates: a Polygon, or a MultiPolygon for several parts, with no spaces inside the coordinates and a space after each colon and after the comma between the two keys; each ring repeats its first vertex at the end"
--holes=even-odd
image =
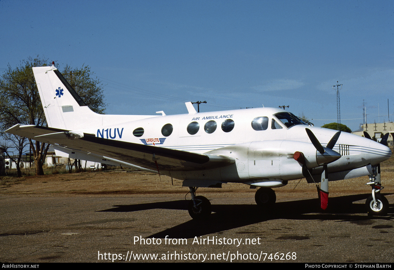
{"type": "Polygon", "coordinates": [[[394,119],[394,1],[0,1],[0,73],[89,65],[107,114],[278,107],[316,126],[394,119]],[[380,114],[380,117],[379,117],[380,114]]]}

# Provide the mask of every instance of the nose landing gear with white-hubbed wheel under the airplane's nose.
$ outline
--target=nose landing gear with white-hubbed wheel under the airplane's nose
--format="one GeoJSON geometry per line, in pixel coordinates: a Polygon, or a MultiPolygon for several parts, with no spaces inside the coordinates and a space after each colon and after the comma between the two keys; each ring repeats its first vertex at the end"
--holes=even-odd
{"type": "Polygon", "coordinates": [[[366,185],[372,187],[372,195],[365,202],[368,215],[380,216],[387,214],[388,200],[380,194],[380,191],[384,188],[380,183],[380,164],[372,166],[370,182],[366,183],[366,185]]]}

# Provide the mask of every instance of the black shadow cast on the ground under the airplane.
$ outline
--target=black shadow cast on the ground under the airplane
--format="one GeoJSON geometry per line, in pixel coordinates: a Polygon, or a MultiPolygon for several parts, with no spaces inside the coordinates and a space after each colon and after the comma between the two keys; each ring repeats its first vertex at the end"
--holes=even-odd
{"type": "MultiPolygon", "coordinates": [[[[390,195],[390,194],[385,194],[390,195]]],[[[219,233],[246,225],[267,220],[338,220],[362,221],[374,219],[390,219],[394,217],[393,205],[390,205],[387,216],[367,216],[364,203],[353,203],[365,200],[370,194],[347,195],[331,197],[329,207],[320,209],[319,199],[303,199],[297,201],[277,202],[269,210],[260,210],[257,205],[212,205],[209,220],[189,220],[172,228],[147,236],[147,238],[193,238],[195,236],[219,233]]],[[[114,205],[115,208],[100,210],[99,212],[134,212],[148,209],[188,209],[188,201],[165,201],[155,203],[141,203],[136,205],[114,205]]],[[[245,232],[247,233],[247,232],[245,232]]]]}

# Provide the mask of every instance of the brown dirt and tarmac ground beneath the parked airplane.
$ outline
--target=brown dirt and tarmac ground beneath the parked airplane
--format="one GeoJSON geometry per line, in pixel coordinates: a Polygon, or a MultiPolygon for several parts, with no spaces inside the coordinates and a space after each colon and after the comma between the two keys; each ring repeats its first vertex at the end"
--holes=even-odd
{"type": "Polygon", "coordinates": [[[209,256],[295,252],[296,262],[392,262],[394,158],[381,164],[381,179],[385,186],[382,193],[390,203],[388,216],[384,217],[366,214],[364,204],[371,188],[365,185],[368,177],[360,177],[330,182],[329,208],[325,212],[318,207],[315,185],[305,179],[275,188],[277,203],[271,212],[258,211],[255,189],[245,184],[199,188],[197,194],[212,203],[210,220],[200,223],[188,214],[184,199],[190,199],[189,189],[163,175],[118,170],[2,177],[0,261],[105,261],[97,252],[191,252],[209,256]],[[169,236],[189,242],[151,246],[136,244],[136,236],[145,240],[169,236]],[[196,246],[191,244],[195,237],[253,238],[262,242],[196,246]]]}

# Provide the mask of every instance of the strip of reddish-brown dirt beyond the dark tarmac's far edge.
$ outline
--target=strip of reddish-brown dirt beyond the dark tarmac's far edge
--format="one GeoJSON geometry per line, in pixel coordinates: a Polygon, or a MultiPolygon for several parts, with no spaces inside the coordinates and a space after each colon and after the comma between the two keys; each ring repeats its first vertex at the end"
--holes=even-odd
{"type": "MultiPolygon", "coordinates": [[[[394,157],[381,164],[381,179],[385,189],[383,194],[394,192],[394,157]]],[[[330,196],[362,194],[370,192],[370,186],[365,186],[367,177],[330,182],[330,196]]],[[[66,173],[56,175],[41,175],[27,177],[1,177],[0,196],[27,195],[27,196],[78,196],[79,195],[121,195],[121,194],[187,194],[188,188],[182,187],[182,181],[171,179],[165,175],[158,175],[131,169],[114,171],[89,171],[84,173],[66,173]]],[[[292,194],[298,197],[316,194],[316,186],[309,184],[305,179],[290,181],[288,185],[275,188],[277,200],[291,199],[292,194]],[[302,195],[301,195],[302,196],[302,195]]],[[[254,197],[255,189],[245,184],[223,184],[223,188],[199,188],[198,195],[236,197],[237,194],[250,193],[254,197]],[[230,195],[231,194],[231,195],[230,195]]],[[[190,195],[188,195],[190,199],[190,195]]],[[[308,196],[308,197],[309,197],[308,196]]],[[[317,196],[317,194],[316,194],[317,196]]],[[[389,196],[389,202],[391,201],[389,196]]]]}

